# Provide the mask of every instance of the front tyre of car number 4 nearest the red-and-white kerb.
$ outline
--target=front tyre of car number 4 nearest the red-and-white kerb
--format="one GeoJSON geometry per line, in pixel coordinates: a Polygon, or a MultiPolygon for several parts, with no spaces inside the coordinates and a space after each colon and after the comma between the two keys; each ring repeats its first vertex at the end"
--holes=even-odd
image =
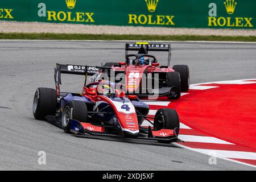
{"type": "MultiPolygon", "coordinates": [[[[168,109],[168,108],[158,109],[158,111],[155,114],[154,129],[155,130],[160,130],[160,129],[174,130],[175,128],[178,129],[178,132],[177,132],[177,135],[178,135],[179,129],[180,129],[180,121],[179,121],[179,115],[177,114],[176,110],[168,109]]],[[[158,140],[158,142],[169,143],[163,140],[158,140]]]]}

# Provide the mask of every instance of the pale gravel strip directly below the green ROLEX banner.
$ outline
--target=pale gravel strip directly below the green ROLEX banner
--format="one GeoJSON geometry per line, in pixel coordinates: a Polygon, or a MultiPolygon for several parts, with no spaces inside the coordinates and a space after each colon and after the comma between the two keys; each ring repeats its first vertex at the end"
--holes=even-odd
{"type": "Polygon", "coordinates": [[[1,33],[56,33],[56,34],[131,34],[131,35],[218,35],[256,36],[256,30],[167,28],[133,26],[93,26],[84,24],[9,22],[0,21],[1,33]]]}

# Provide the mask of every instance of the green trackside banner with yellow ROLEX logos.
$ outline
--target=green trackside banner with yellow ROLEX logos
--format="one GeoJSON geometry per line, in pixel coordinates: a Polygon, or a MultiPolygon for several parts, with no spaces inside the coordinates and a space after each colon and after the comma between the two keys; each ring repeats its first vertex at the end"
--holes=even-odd
{"type": "Polygon", "coordinates": [[[0,20],[255,28],[256,0],[0,0],[0,20]]]}

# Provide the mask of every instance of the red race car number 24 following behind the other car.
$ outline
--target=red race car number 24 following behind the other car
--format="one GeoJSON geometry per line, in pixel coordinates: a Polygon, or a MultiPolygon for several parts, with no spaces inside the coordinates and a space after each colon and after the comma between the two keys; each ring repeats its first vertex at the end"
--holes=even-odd
{"type": "Polygon", "coordinates": [[[122,81],[127,94],[138,97],[158,98],[168,96],[170,99],[180,98],[181,92],[189,89],[189,68],[187,65],[170,67],[171,45],[149,43],[126,43],[124,62],[105,63],[102,69],[114,82],[122,81]],[[128,51],[138,51],[128,54],[128,51]],[[148,51],[168,52],[167,65],[159,65],[155,56],[148,51]]]}

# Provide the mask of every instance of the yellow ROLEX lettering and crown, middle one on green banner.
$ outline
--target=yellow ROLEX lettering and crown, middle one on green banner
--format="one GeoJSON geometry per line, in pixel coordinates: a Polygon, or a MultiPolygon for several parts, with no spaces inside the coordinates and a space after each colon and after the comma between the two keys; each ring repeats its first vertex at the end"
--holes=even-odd
{"type": "Polygon", "coordinates": [[[159,0],[141,0],[145,3],[145,8],[147,7],[148,14],[128,14],[128,23],[137,25],[163,25],[163,26],[174,26],[174,15],[158,15],[155,14],[156,8],[160,3],[159,0]],[[154,14],[153,14],[154,13],[154,14]]]}

